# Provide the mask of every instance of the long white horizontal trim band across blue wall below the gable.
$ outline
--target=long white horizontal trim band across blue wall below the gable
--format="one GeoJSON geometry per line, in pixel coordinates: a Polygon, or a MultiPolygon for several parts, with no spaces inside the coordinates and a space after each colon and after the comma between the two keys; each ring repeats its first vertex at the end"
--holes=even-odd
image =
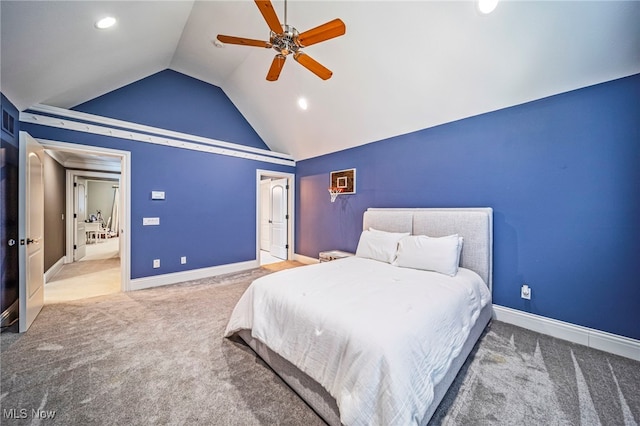
{"type": "Polygon", "coordinates": [[[291,167],[295,166],[295,161],[289,154],[282,154],[266,149],[253,148],[250,146],[219,141],[217,139],[174,132],[158,127],[144,126],[128,121],[114,120],[112,118],[70,111],[47,105],[36,105],[29,108],[29,110],[55,114],[57,116],[67,117],[70,119],[40,115],[32,112],[21,112],[21,122],[152,143],[156,145],[171,146],[174,148],[208,152],[211,154],[227,155],[248,160],[263,161],[266,163],[282,164],[291,167]],[[74,121],[71,119],[81,120],[84,122],[74,121]]]}

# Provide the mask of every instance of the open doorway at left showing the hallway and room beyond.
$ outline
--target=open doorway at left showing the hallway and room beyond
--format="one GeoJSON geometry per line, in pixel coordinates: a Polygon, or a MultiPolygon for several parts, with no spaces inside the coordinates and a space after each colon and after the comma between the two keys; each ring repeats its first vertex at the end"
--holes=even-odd
{"type": "Polygon", "coordinates": [[[41,143],[66,169],[64,264],[47,280],[45,303],[128,291],[130,153],[41,143]]]}

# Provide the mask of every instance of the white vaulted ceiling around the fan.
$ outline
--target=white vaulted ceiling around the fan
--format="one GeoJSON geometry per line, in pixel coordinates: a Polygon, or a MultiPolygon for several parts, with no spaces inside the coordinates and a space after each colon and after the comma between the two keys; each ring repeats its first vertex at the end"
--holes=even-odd
{"type": "MultiPolygon", "coordinates": [[[[274,1],[284,23],[284,3],[274,1]]],[[[305,49],[323,81],[275,51],[253,1],[7,1],[2,92],[20,110],[70,108],[171,68],[221,87],[274,151],[301,160],[640,72],[640,1],[288,2],[305,31],[334,18],[344,36],[305,49]],[[112,14],[116,28],[94,21],[112,14]],[[297,99],[308,99],[302,111],[297,99]]],[[[230,141],[233,142],[233,141],[230,141]]]]}

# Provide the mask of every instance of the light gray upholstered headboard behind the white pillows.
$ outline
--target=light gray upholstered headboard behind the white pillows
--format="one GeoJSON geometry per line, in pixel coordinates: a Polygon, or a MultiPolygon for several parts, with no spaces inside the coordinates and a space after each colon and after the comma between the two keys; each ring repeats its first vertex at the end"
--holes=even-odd
{"type": "Polygon", "coordinates": [[[464,238],[460,266],[476,272],[489,289],[493,285],[493,209],[425,208],[377,209],[364,212],[363,229],[411,232],[413,235],[444,237],[459,234],[464,238]]]}

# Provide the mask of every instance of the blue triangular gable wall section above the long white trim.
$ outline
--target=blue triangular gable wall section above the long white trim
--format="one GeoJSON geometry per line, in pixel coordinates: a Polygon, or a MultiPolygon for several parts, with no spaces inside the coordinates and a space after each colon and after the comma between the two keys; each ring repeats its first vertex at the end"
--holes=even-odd
{"type": "Polygon", "coordinates": [[[168,69],[73,110],[269,149],[222,89],[168,69]]]}

